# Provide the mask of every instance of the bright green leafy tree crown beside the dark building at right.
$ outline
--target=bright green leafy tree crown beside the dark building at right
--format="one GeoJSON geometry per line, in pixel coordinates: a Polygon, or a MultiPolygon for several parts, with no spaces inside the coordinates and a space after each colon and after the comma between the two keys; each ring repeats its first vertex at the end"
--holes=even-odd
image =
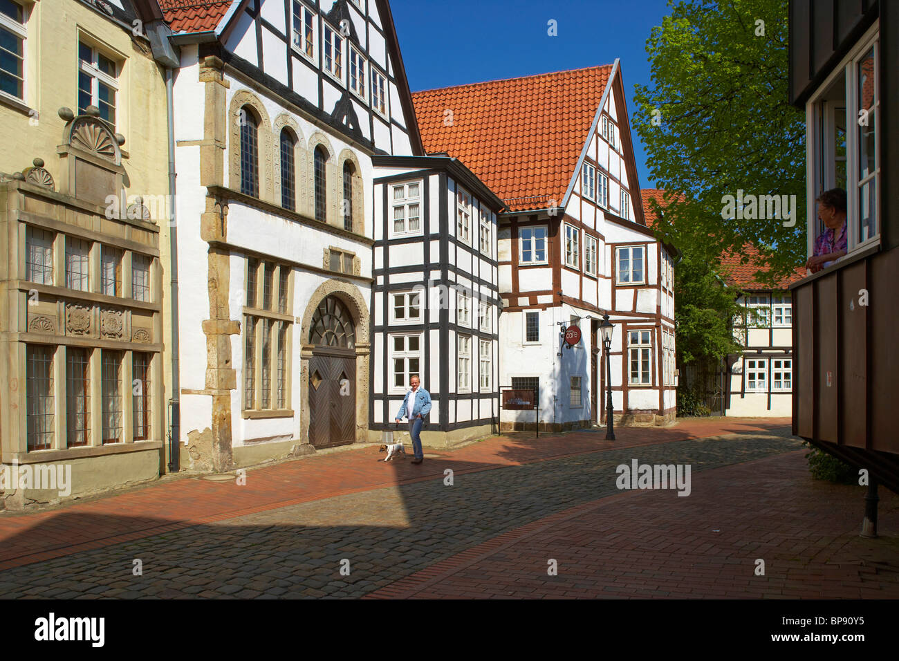
{"type": "MultiPolygon", "coordinates": [[[[650,174],[660,188],[683,193],[668,204],[657,229],[681,250],[689,246],[690,260],[709,264],[751,243],[767,266],[757,280],[774,281],[806,260],[806,124],[788,103],[788,3],[669,4],[671,15],[646,41],[652,82],[636,85],[633,117],[650,174]],[[795,195],[795,225],[722,218],[722,198],[739,190],[795,195]]],[[[698,308],[684,324],[713,326],[701,309],[712,308],[698,308]]]]}

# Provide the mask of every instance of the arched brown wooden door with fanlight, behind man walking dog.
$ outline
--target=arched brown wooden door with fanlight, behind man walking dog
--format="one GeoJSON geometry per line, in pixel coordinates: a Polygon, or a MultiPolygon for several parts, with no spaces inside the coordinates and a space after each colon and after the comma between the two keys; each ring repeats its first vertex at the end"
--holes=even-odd
{"type": "Polygon", "coordinates": [[[316,448],[355,442],[356,326],[341,299],[319,303],[309,344],[309,442],[316,448]]]}

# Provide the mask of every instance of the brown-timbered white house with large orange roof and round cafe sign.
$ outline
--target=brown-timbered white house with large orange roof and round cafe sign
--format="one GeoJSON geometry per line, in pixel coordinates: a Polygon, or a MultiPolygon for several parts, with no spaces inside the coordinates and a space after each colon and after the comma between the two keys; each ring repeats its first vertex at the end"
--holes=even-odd
{"type": "MultiPolygon", "coordinates": [[[[601,422],[610,352],[615,415],[674,415],[672,260],[645,225],[618,61],[413,95],[424,147],[457,156],[508,210],[499,217],[500,380],[539,389],[549,429],[601,422]],[[563,348],[565,328],[582,340],[563,348]],[[673,363],[672,363],[673,364],[673,363]]],[[[534,424],[503,411],[504,427],[534,424]]]]}

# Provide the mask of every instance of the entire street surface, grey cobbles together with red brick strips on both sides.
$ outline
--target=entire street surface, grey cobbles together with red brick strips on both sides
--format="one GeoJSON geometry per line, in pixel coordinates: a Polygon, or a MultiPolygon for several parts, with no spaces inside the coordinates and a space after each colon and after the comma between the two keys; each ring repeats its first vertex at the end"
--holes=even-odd
{"type": "Polygon", "coordinates": [[[783,423],[495,439],[419,467],[369,447],[5,514],[0,596],[896,596],[895,537],[858,538],[864,490],[812,481],[783,423]],[[691,496],[620,492],[634,458],[690,463],[691,496]]]}

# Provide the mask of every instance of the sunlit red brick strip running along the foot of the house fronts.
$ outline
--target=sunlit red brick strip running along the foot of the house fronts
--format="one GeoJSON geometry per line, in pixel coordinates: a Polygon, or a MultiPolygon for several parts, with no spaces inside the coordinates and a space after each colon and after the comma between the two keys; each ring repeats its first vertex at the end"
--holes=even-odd
{"type": "Polygon", "coordinates": [[[0,518],[0,571],[198,523],[214,523],[331,496],[442,478],[443,470],[448,467],[456,474],[464,474],[583,452],[725,433],[765,432],[788,424],[788,418],[685,420],[665,428],[619,428],[615,441],[606,441],[603,432],[542,434],[539,439],[530,434],[516,434],[442,451],[439,463],[425,460],[420,466],[412,466],[408,461],[377,461],[378,456],[384,455],[378,453],[377,447],[366,446],[251,469],[242,487],[230,481],[166,480],[40,512],[4,514],[0,518]],[[63,510],[67,514],[91,516],[58,516],[63,510]],[[127,514],[127,518],[122,514],[127,514]],[[109,520],[104,521],[103,515],[108,515],[109,520]]]}

